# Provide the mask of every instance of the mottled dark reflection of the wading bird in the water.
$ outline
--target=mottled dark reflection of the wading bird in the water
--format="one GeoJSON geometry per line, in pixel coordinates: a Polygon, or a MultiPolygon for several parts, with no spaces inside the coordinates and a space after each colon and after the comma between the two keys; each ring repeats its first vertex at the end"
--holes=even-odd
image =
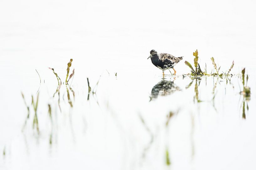
{"type": "Polygon", "coordinates": [[[174,84],[174,80],[162,79],[151,90],[150,101],[155,100],[158,96],[171,95],[175,91],[180,91],[180,87],[174,84]]]}

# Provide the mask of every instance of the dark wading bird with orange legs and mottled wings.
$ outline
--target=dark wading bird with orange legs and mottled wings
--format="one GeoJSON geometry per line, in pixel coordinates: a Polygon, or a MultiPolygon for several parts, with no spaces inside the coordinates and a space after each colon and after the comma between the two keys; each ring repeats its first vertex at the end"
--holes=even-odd
{"type": "Polygon", "coordinates": [[[163,75],[165,75],[165,70],[170,68],[174,70],[174,74],[176,75],[176,70],[173,67],[183,59],[183,57],[175,57],[167,53],[157,53],[155,50],[150,51],[149,58],[151,58],[154,66],[163,71],[163,75]]]}

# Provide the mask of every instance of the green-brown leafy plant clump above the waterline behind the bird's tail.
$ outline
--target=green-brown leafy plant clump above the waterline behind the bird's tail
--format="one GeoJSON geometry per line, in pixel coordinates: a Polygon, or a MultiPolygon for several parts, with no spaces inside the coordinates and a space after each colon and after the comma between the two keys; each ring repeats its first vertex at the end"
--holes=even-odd
{"type": "Polygon", "coordinates": [[[216,70],[217,73],[207,74],[206,65],[205,65],[205,71],[202,71],[201,67],[200,67],[200,64],[198,63],[198,51],[197,50],[195,52],[193,52],[193,56],[195,56],[195,58],[194,58],[195,69],[193,68],[193,66],[188,61],[185,61],[185,65],[187,65],[191,69],[191,75],[193,75],[193,76],[202,76],[202,75],[213,75],[213,76],[220,76],[220,77],[222,77],[223,75],[228,76],[229,72],[231,71],[231,69],[234,66],[234,61],[233,61],[232,65],[231,65],[231,67],[230,67],[230,69],[228,70],[227,73],[223,72],[223,73],[219,74],[219,71],[220,71],[221,67],[217,67],[217,65],[214,61],[214,58],[212,57],[211,58],[212,65],[213,65],[213,67],[214,67],[214,69],[216,70]]]}

